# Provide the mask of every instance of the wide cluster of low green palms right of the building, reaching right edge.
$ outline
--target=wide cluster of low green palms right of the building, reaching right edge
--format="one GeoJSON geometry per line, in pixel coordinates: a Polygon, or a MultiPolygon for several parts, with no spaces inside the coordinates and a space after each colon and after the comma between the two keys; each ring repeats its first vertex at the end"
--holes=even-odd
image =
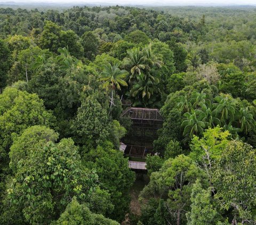
{"type": "MultiPolygon", "coordinates": [[[[255,113],[250,103],[242,103],[241,99],[222,93],[213,98],[208,88],[203,88],[201,93],[190,88],[186,86],[182,91],[171,93],[161,110],[164,116],[174,109],[184,112],[181,123],[183,141],[189,141],[193,135],[201,137],[206,129],[216,126],[228,130],[234,138],[238,135],[247,137],[250,132],[255,132],[255,113]],[[210,94],[205,93],[206,90],[210,94]]],[[[163,126],[166,126],[165,122],[163,126]]]]}

